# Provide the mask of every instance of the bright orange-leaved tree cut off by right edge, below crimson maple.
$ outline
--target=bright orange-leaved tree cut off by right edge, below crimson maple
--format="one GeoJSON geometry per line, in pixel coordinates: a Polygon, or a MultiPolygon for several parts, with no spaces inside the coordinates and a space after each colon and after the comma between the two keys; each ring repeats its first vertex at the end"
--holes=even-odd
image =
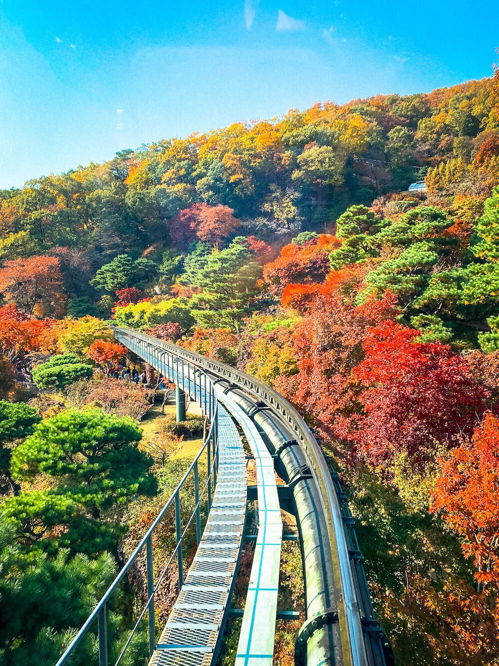
{"type": "Polygon", "coordinates": [[[499,418],[486,414],[469,440],[440,460],[432,511],[440,511],[472,557],[478,585],[499,585],[499,418]]]}

